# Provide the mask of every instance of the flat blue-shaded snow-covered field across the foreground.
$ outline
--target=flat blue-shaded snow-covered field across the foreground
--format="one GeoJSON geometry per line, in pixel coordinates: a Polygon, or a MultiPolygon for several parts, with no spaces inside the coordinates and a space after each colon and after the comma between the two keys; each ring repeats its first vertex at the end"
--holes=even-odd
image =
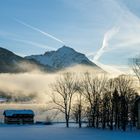
{"type": "Polygon", "coordinates": [[[140,140],[140,131],[121,132],[54,125],[0,125],[0,140],[140,140]]]}

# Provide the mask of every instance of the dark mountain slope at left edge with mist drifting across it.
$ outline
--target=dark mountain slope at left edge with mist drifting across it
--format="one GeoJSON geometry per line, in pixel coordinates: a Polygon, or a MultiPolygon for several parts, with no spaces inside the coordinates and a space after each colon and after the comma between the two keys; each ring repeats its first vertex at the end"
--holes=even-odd
{"type": "Polygon", "coordinates": [[[0,47],[0,73],[29,72],[38,68],[45,69],[35,60],[22,58],[5,48],[0,47]]]}

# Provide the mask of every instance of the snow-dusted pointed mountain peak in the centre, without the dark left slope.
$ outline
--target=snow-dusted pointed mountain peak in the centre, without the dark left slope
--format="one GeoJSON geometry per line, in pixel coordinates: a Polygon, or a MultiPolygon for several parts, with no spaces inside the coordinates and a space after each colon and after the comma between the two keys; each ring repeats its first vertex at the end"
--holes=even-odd
{"type": "MultiPolygon", "coordinates": [[[[55,70],[75,66],[87,65],[100,69],[96,64],[91,62],[84,54],[74,49],[63,46],[56,51],[48,51],[41,55],[31,55],[25,57],[28,60],[35,60],[42,65],[50,66],[55,70]]],[[[101,70],[101,69],[100,69],[101,70]]]]}

